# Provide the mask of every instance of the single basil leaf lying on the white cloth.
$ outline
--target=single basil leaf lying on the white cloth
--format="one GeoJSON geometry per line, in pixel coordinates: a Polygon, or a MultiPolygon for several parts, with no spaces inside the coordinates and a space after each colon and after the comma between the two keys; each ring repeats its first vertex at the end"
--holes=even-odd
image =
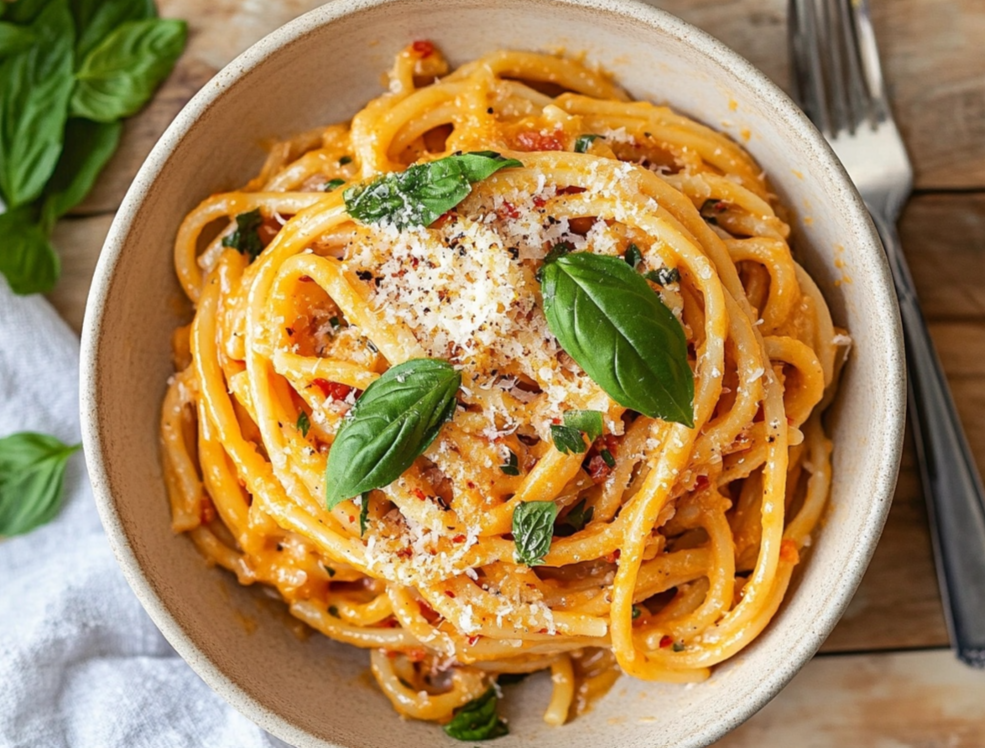
{"type": "Polygon", "coordinates": [[[58,513],[65,465],[81,447],[32,432],[0,439],[0,536],[30,532],[58,513]]]}

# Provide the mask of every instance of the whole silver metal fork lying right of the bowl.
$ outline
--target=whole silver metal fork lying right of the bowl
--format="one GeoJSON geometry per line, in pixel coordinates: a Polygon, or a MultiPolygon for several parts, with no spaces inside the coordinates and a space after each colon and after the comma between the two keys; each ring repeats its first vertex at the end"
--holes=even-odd
{"type": "Polygon", "coordinates": [[[913,168],[889,108],[868,0],[790,0],[789,7],[797,98],[855,182],[892,270],[951,646],[963,662],[985,667],[985,490],[896,233],[913,168]]]}

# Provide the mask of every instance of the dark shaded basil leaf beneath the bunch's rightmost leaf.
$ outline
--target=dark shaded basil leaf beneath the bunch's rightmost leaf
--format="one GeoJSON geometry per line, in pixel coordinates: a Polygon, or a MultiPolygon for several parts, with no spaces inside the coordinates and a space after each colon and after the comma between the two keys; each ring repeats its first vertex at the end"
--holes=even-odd
{"type": "Polygon", "coordinates": [[[96,177],[116,151],[123,125],[70,119],[65,126],[65,149],[45,187],[42,225],[55,221],[82,202],[96,177]]]}

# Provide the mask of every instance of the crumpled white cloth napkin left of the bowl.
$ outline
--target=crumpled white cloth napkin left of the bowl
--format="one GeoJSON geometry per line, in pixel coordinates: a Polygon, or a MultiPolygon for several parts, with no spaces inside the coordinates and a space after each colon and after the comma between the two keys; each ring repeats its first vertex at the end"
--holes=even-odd
{"type": "MultiPolygon", "coordinates": [[[[74,333],[0,277],[0,436],[77,443],[78,375],[74,333]]],[[[284,745],[213,693],[144,613],[73,456],[58,517],[0,540],[0,748],[284,745]]]]}

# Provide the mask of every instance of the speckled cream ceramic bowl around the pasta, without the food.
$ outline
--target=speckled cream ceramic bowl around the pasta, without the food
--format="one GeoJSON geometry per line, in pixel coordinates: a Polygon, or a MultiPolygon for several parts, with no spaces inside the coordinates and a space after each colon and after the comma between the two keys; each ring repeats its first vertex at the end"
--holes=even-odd
{"type": "Polygon", "coordinates": [[[171,246],[182,217],[255,174],[260,143],[351,117],[380,92],[392,55],[432,39],[453,63],[496,48],[586,52],[637,98],[668,102],[747,146],[794,208],[795,249],[855,340],[832,423],[830,509],[793,588],[759,640],[691,687],[621,679],[563,728],[541,720],[537,677],[506,700],[511,735],[539,745],[701,746],[763,706],[814,654],[852,596],[889,509],[903,431],[903,359],[886,262],[848,177],[765,76],[704,33],[648,6],[603,0],[336,0],[262,40],[185,107],[137,175],[96,270],[83,333],[82,417],[99,510],[155,623],[216,691],[301,746],[461,745],[403,722],[366,676],[365,652],[299,640],[256,589],[210,569],[169,527],[158,415],[183,318],[171,246]],[[735,108],[737,104],[737,108],[735,108]],[[810,217],[808,219],[808,216],[810,217]],[[844,267],[837,268],[836,260],[844,267]],[[843,276],[851,282],[839,282],[843,276]],[[255,623],[244,625],[245,621],[255,623]]]}

